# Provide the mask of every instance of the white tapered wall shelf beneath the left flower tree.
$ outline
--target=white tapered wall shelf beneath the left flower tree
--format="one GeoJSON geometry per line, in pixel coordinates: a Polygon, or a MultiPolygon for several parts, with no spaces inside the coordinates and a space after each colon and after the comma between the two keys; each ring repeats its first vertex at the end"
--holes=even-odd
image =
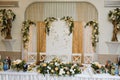
{"type": "Polygon", "coordinates": [[[3,39],[7,51],[13,51],[13,43],[16,41],[15,39],[3,39]]]}

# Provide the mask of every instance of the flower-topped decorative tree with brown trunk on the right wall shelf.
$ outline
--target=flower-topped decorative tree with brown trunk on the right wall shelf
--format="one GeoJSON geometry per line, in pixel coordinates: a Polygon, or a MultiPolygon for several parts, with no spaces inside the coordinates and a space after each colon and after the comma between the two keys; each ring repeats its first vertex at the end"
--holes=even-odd
{"type": "Polygon", "coordinates": [[[113,24],[113,36],[112,41],[118,41],[117,39],[117,33],[120,31],[120,9],[116,8],[113,10],[110,10],[108,13],[108,19],[113,24]]]}

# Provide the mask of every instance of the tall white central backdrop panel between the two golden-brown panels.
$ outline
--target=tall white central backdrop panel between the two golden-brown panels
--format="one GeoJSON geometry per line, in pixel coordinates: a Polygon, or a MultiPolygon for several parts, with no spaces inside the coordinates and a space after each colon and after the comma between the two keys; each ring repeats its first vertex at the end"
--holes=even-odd
{"type": "Polygon", "coordinates": [[[65,21],[59,20],[52,23],[46,39],[46,55],[72,54],[72,34],[65,21]]]}

